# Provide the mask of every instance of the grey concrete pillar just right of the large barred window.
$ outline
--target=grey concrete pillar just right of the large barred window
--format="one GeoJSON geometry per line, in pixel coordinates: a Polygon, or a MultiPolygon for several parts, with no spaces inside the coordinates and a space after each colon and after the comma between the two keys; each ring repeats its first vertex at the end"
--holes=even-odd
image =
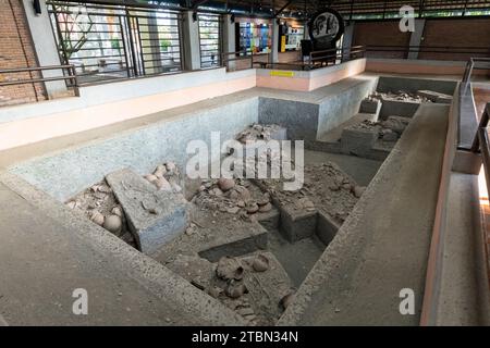
{"type": "Polygon", "coordinates": [[[184,69],[200,70],[199,23],[193,20],[193,11],[184,12],[182,21],[182,36],[184,40],[184,69]]]}

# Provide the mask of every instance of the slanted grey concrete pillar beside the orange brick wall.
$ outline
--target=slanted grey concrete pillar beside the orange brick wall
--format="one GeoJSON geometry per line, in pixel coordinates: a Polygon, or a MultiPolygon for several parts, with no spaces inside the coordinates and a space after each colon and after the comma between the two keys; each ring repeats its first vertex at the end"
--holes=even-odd
{"type": "MultiPolygon", "coordinates": [[[[46,0],[40,0],[40,15],[35,14],[32,0],[22,0],[22,2],[39,66],[61,65],[46,0]]],[[[45,78],[60,77],[63,76],[63,72],[61,70],[49,70],[44,71],[41,75],[45,78]]],[[[63,80],[49,82],[45,86],[49,98],[66,92],[66,84],[63,80]]]]}

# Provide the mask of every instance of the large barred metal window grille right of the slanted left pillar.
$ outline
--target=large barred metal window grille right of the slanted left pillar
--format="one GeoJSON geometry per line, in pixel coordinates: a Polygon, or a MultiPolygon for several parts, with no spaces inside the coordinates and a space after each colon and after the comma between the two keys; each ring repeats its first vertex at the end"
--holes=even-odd
{"type": "Polygon", "coordinates": [[[183,71],[177,11],[58,0],[47,7],[61,61],[76,66],[81,85],[183,71]]]}

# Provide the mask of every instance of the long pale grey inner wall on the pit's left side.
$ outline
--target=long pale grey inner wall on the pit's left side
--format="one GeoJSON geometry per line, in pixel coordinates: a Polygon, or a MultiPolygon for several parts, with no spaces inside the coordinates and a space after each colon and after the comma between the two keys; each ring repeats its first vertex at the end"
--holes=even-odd
{"type": "Polygon", "coordinates": [[[209,147],[211,132],[220,132],[221,141],[232,139],[249,124],[258,122],[257,111],[258,100],[250,98],[183,114],[174,120],[33,159],[10,171],[53,198],[65,201],[101,181],[106,174],[123,167],[133,167],[143,175],[164,161],[174,161],[183,166],[189,158],[186,154],[188,141],[204,140],[209,147]]]}

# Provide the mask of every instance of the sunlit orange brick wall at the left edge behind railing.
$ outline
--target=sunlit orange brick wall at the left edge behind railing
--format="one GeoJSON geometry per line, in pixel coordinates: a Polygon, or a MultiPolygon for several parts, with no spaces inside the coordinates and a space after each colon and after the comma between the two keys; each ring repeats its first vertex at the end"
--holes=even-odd
{"type": "MultiPolygon", "coordinates": [[[[0,69],[37,66],[21,0],[0,0],[0,69]]],[[[0,74],[0,82],[39,77],[38,73],[0,74]]],[[[41,84],[0,87],[0,107],[46,99],[41,84]]]]}

